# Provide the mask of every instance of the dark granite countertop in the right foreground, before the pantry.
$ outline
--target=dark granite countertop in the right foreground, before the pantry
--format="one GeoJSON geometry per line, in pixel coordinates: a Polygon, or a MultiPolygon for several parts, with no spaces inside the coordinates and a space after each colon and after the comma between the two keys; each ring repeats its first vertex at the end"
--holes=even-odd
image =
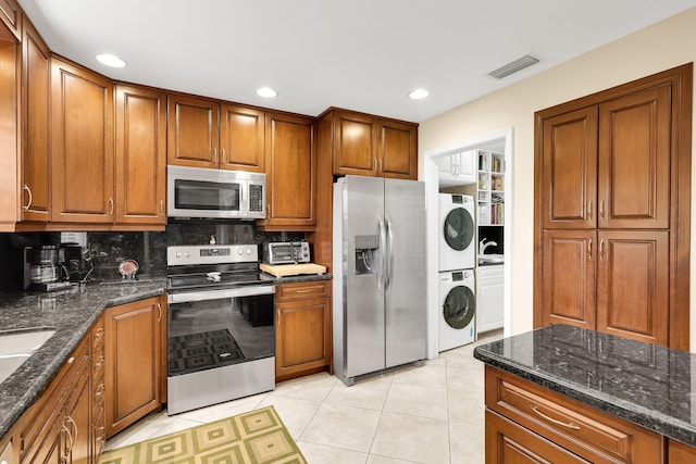
{"type": "Polygon", "coordinates": [[[476,347],[474,358],[696,446],[696,354],[552,325],[476,347]]]}

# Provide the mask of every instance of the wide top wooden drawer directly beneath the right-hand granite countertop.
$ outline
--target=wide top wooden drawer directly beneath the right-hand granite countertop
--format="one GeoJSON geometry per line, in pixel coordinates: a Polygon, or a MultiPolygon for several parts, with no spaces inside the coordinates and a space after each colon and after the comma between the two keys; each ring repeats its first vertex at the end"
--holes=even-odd
{"type": "Polygon", "coordinates": [[[658,434],[486,367],[486,406],[594,463],[660,462],[658,434]]]}

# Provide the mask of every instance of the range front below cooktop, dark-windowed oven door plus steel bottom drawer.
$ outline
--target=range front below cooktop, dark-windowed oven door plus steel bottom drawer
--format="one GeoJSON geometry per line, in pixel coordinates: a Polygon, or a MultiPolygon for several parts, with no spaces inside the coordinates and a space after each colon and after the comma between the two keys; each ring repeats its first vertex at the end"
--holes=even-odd
{"type": "Polygon", "coordinates": [[[167,412],[272,390],[275,288],[169,294],[167,412]]]}

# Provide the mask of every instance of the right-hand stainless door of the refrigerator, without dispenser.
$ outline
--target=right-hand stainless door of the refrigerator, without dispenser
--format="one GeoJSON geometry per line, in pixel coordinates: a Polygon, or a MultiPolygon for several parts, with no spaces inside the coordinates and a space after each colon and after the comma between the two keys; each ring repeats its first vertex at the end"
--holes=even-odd
{"type": "Polygon", "coordinates": [[[425,187],[385,179],[387,224],[386,367],[424,360],[427,351],[425,187]]]}

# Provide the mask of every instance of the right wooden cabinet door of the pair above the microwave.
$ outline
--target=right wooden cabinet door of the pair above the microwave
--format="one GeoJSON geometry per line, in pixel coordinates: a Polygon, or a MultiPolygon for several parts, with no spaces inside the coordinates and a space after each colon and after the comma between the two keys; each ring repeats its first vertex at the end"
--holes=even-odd
{"type": "Polygon", "coordinates": [[[263,173],[264,129],[262,111],[223,104],[220,109],[220,168],[263,173]]]}

